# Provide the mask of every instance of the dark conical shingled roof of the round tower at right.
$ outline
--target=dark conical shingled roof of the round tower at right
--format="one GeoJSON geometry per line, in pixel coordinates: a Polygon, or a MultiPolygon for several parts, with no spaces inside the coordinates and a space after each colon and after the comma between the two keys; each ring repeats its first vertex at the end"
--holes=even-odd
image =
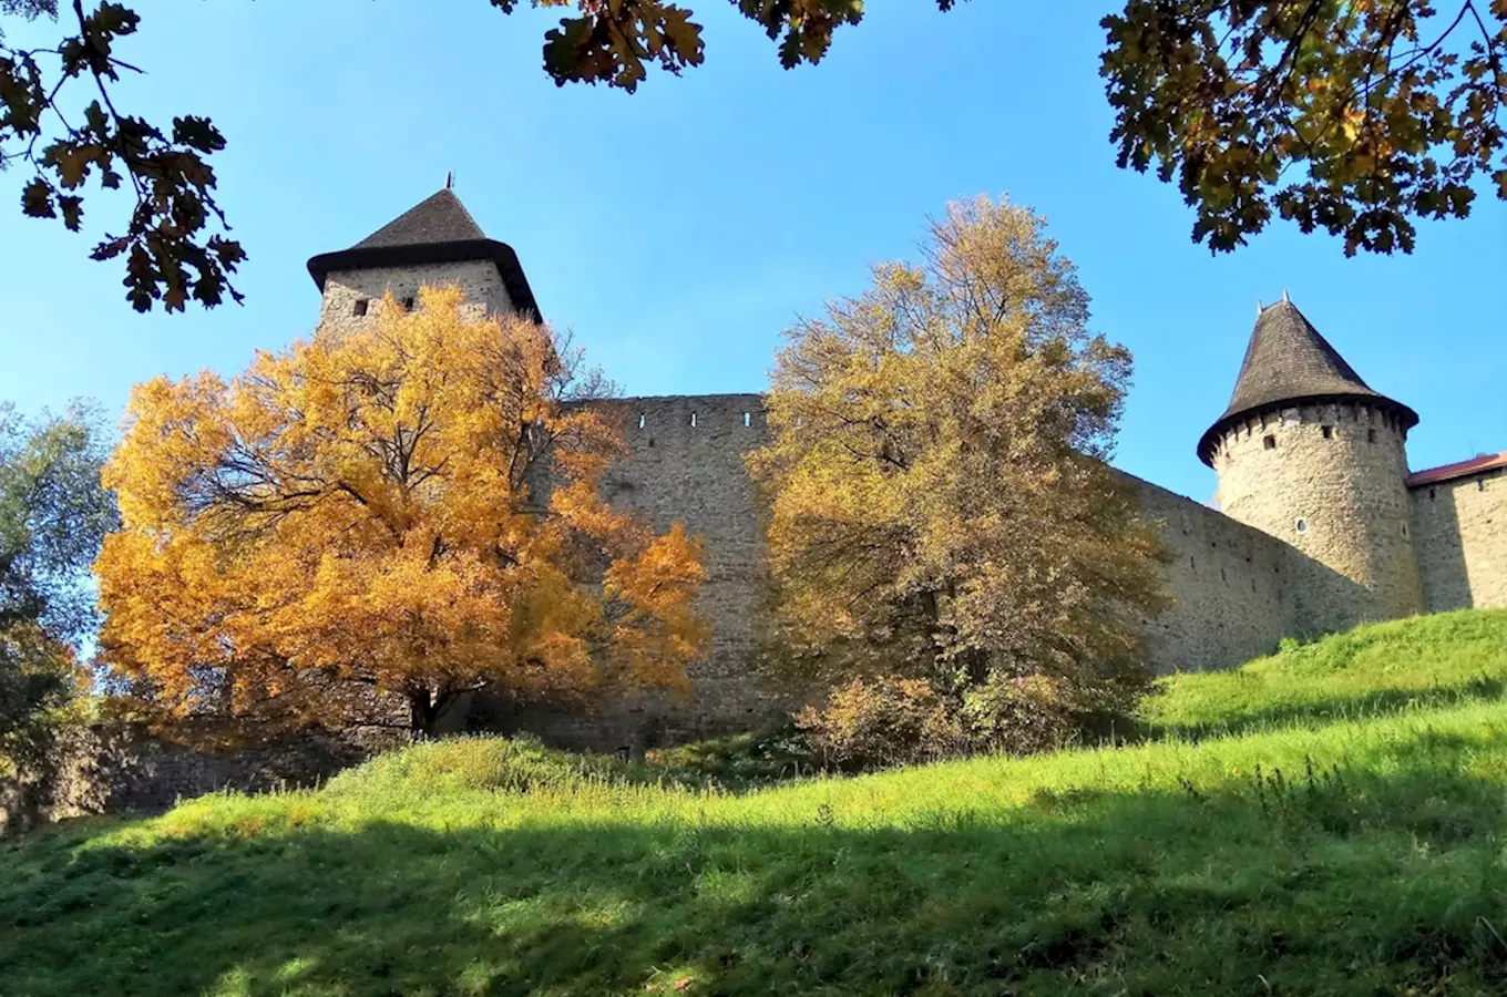
{"type": "Polygon", "coordinates": [[[1215,440],[1230,423],[1246,416],[1295,402],[1341,399],[1389,407],[1405,429],[1418,425],[1414,410],[1373,392],[1298,306],[1282,295],[1281,301],[1261,309],[1257,316],[1230,407],[1198,441],[1198,456],[1212,464],[1215,440]]]}

